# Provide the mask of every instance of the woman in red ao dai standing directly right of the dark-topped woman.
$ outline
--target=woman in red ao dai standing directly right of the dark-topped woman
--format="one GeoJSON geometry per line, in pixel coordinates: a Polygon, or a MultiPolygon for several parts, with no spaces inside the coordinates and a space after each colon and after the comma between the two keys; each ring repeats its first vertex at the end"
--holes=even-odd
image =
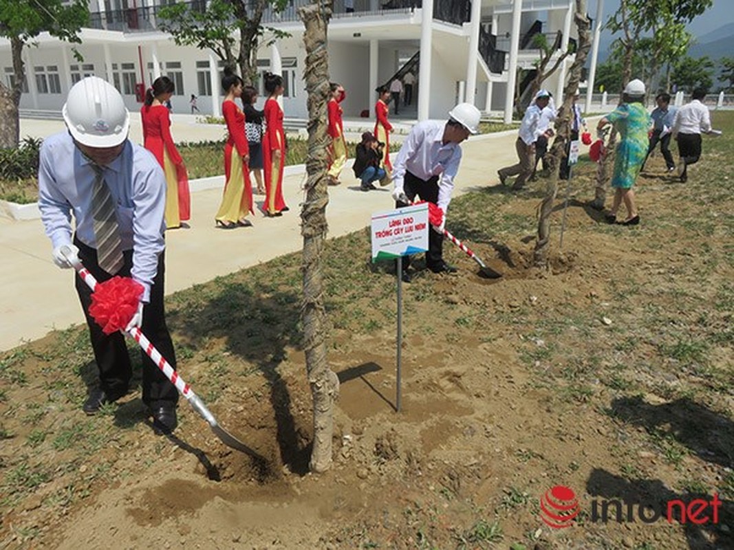
{"type": "Polygon", "coordinates": [[[283,95],[283,77],[265,73],[265,136],[263,138],[263,163],[265,172],[265,215],[269,218],[283,216],[288,210],[283,200],[283,166],[286,164],[286,132],[283,130],[283,109],[277,98],[283,95]]]}

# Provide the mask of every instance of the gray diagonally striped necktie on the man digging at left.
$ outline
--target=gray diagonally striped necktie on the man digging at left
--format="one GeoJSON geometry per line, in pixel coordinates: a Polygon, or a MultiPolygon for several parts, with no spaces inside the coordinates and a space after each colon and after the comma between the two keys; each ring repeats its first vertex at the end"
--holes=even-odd
{"type": "Polygon", "coordinates": [[[102,167],[92,164],[92,168],[96,175],[92,188],[92,221],[97,241],[97,263],[107,273],[115,275],[123,268],[123,241],[117,227],[115,204],[104,181],[102,167]]]}

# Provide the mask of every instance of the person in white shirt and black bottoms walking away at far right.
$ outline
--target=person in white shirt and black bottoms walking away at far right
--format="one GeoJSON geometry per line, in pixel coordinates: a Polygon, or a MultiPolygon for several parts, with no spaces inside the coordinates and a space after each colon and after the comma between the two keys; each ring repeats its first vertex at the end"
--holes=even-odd
{"type": "Polygon", "coordinates": [[[701,156],[701,133],[711,131],[711,117],[708,107],[702,103],[706,90],[693,91],[693,100],[678,109],[673,122],[673,139],[678,142],[678,175],[680,181],[688,181],[688,166],[696,164],[701,156]]]}

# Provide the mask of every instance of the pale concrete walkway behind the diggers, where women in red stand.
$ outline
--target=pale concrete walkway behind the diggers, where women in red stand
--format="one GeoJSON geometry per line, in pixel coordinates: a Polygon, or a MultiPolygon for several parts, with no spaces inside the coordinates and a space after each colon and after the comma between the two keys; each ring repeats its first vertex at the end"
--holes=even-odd
{"type": "MultiPolygon", "coordinates": [[[[137,141],[139,125],[132,126],[131,138],[137,141]]],[[[174,120],[172,133],[182,142],[194,141],[194,137],[221,138],[221,128],[202,126],[174,120]]],[[[21,128],[21,136],[48,136],[62,130],[63,124],[53,120],[24,120],[21,128]]],[[[516,136],[516,131],[509,131],[475,136],[465,142],[454,196],[469,188],[495,185],[497,170],[516,161],[516,136]]],[[[301,172],[283,180],[290,212],[269,219],[258,210],[252,218],[254,227],[247,229],[215,229],[214,213],[222,197],[220,188],[192,193],[191,227],[166,235],[166,292],[182,290],[300,250],[299,204],[304,179],[305,174],[301,172]]],[[[391,187],[364,193],[359,190],[359,180],[353,177],[351,168],[344,170],[341,179],[342,186],[329,188],[330,237],[360,230],[370,223],[371,213],[393,208],[391,187]]],[[[258,204],[263,198],[256,197],[258,204]]],[[[365,250],[364,254],[367,257],[369,251],[365,250]]],[[[73,290],[73,271],[61,270],[51,261],[51,245],[40,220],[0,218],[0,255],[3,258],[0,263],[1,351],[43,337],[53,329],[65,329],[84,321],[73,290]]]]}

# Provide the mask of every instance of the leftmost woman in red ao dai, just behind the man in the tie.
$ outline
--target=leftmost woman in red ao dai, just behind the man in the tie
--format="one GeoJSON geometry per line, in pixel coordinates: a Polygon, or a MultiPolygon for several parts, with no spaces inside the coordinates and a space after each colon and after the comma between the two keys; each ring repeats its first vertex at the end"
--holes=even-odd
{"type": "Polygon", "coordinates": [[[174,89],[170,78],[159,76],[153,81],[153,87],[145,92],[145,103],[140,109],[144,147],[153,153],[166,175],[165,219],[168,229],[181,227],[182,221],[191,219],[189,175],[173,143],[171,119],[164,106],[174,89]]]}

